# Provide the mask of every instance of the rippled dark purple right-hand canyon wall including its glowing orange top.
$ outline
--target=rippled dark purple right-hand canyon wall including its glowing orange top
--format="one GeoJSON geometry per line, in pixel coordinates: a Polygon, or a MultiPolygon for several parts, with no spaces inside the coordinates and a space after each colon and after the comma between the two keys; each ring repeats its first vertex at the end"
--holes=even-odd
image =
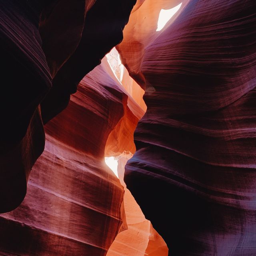
{"type": "Polygon", "coordinates": [[[159,32],[150,8],[165,7],[137,6],[117,47],[148,107],[124,181],[170,255],[253,256],[255,1],[186,1],[159,32]]]}

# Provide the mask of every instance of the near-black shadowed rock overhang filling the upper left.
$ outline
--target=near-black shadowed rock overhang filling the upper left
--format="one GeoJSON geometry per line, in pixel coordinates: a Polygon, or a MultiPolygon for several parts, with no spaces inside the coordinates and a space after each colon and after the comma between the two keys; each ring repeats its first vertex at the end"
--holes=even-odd
{"type": "Polygon", "coordinates": [[[67,106],[80,80],[122,40],[135,1],[117,2],[0,1],[8,81],[0,107],[0,212],[16,208],[26,194],[30,170],[44,150],[43,124],[67,106]]]}

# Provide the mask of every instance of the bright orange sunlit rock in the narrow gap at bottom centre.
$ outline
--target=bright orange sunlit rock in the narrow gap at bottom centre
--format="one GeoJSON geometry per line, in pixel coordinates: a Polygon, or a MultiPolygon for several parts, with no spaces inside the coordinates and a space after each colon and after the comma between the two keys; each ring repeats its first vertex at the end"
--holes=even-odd
{"type": "Polygon", "coordinates": [[[111,244],[107,256],[167,256],[168,247],[163,238],[146,220],[142,210],[124,183],[124,166],[132,154],[121,154],[118,159],[118,177],[124,186],[124,210],[127,229],[120,232],[111,244]]]}

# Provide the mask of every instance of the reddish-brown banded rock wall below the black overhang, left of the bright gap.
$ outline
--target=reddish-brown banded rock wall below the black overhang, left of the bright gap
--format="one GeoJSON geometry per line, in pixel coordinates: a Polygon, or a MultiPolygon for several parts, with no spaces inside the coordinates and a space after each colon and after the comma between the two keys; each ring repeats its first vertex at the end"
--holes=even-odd
{"type": "Polygon", "coordinates": [[[26,198],[1,215],[1,255],[106,255],[122,224],[124,190],[104,149],[127,98],[108,70],[102,64],[83,78],[68,108],[45,126],[26,198]]]}

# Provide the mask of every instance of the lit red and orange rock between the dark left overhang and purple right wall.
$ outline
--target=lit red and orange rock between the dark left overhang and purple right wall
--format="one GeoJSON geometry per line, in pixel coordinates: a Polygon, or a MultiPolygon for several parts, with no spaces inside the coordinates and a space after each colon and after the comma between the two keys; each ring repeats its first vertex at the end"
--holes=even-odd
{"type": "Polygon", "coordinates": [[[123,180],[124,166],[135,152],[133,133],[146,111],[144,91],[124,67],[120,82],[118,52],[114,48],[109,55],[111,59],[104,57],[83,78],[68,107],[45,126],[46,147],[30,173],[26,198],[1,214],[2,252],[168,255],[123,180]],[[104,157],[119,158],[121,184],[104,157]]]}

